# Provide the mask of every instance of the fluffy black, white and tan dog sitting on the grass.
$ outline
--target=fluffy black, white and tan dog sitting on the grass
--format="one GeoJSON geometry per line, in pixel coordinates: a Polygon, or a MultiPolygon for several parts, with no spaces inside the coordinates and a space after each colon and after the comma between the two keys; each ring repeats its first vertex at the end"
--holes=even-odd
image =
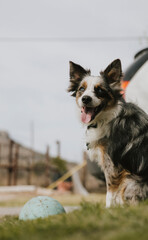
{"type": "Polygon", "coordinates": [[[105,174],[106,207],[148,198],[148,115],[125,102],[122,66],[114,60],[99,76],[70,62],[68,92],[86,126],[86,146],[105,174]]]}

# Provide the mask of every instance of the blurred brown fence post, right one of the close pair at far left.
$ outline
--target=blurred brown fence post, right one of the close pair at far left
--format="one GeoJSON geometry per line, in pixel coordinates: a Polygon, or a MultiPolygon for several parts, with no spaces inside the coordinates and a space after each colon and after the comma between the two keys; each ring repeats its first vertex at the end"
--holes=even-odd
{"type": "Polygon", "coordinates": [[[15,155],[13,160],[13,184],[17,185],[19,145],[15,144],[15,155]]]}

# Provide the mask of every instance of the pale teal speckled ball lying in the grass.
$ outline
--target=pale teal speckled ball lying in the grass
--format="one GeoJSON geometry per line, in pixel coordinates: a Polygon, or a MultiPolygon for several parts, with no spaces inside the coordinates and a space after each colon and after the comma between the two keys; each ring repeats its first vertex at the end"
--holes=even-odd
{"type": "Polygon", "coordinates": [[[61,213],[65,213],[65,210],[57,200],[47,196],[38,196],[29,200],[23,206],[19,219],[33,220],[61,213]]]}

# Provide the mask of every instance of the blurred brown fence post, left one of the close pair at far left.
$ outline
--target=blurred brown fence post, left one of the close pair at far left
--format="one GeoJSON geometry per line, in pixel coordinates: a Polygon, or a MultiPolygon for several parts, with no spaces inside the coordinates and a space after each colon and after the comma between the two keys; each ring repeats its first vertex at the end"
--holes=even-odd
{"type": "Polygon", "coordinates": [[[13,171],[13,167],[12,167],[12,161],[13,161],[13,140],[10,140],[10,143],[9,143],[9,156],[8,156],[8,161],[9,161],[9,164],[8,164],[8,186],[11,185],[12,183],[12,171],[13,171]]]}

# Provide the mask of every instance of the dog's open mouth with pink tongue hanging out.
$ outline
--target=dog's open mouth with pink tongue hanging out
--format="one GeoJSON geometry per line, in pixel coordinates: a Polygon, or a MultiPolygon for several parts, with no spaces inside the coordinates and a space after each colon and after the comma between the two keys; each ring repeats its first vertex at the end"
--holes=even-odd
{"type": "Polygon", "coordinates": [[[102,110],[102,105],[100,104],[97,107],[82,107],[81,108],[81,121],[83,123],[91,122],[96,115],[102,110]]]}

